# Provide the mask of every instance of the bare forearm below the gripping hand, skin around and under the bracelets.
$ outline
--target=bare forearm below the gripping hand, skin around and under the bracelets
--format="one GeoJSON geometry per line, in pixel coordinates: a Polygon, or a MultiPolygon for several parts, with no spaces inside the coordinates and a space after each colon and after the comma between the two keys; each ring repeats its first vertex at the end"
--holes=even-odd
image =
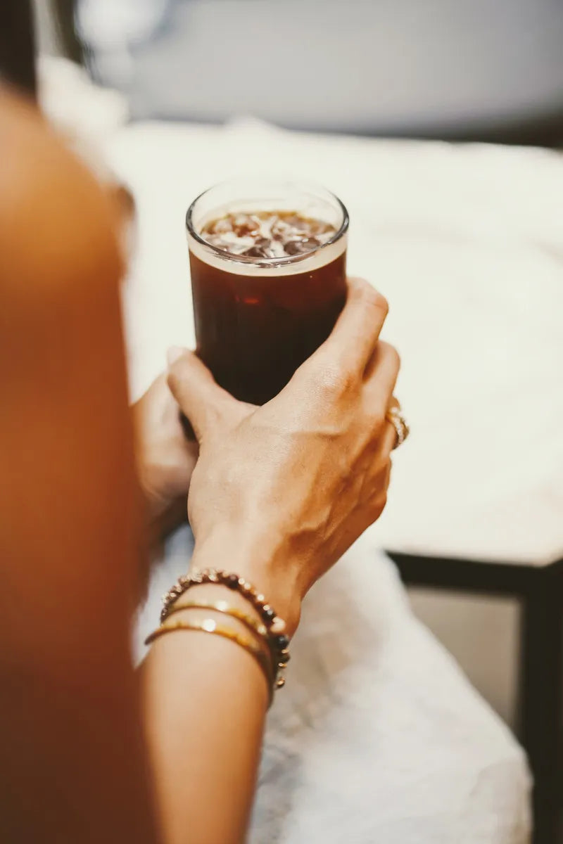
{"type": "MultiPolygon", "coordinates": [[[[253,565],[248,553],[233,552],[232,546],[229,565],[221,564],[229,560],[225,549],[221,557],[210,549],[196,554],[193,565],[215,565],[244,575],[278,609],[274,597],[284,601],[283,594],[268,571],[253,565]]],[[[246,600],[226,587],[192,587],[189,599],[227,600],[249,611],[246,600]]],[[[178,603],[182,601],[187,603],[183,596],[178,603]]],[[[291,607],[284,604],[284,609],[298,618],[295,602],[291,607]]],[[[174,619],[204,616],[203,610],[191,610],[174,619]]],[[[240,844],[252,809],[270,693],[263,671],[234,642],[193,630],[154,641],[141,671],[166,844],[240,844]]]]}

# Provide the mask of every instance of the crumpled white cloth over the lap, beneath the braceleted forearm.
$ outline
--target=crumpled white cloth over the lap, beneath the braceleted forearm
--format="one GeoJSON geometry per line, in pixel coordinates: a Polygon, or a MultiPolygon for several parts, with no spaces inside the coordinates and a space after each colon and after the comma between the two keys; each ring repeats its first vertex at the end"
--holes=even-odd
{"type": "MultiPolygon", "coordinates": [[[[186,571],[155,568],[137,630],[186,571]]],[[[370,531],[306,598],[268,717],[251,844],[524,844],[522,750],[409,609],[370,531]]]]}

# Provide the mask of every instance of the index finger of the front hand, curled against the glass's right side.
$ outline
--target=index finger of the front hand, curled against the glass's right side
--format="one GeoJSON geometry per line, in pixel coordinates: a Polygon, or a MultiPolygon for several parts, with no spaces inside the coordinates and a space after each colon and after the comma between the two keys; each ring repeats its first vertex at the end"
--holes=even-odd
{"type": "Polygon", "coordinates": [[[348,279],[344,310],[318,354],[330,354],[340,365],[363,372],[376,347],[387,310],[387,300],[371,284],[363,279],[348,279]]]}

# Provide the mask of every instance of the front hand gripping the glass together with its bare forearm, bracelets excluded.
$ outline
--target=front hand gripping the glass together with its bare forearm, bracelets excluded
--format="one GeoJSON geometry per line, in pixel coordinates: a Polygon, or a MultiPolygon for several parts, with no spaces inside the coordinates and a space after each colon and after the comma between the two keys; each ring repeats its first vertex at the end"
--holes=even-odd
{"type": "MultiPolygon", "coordinates": [[[[331,336],[261,408],[218,387],[194,354],[180,352],[169,370],[200,448],[188,495],[193,565],[245,576],[290,635],[307,589],[385,505],[398,374],[397,353],[378,341],[386,314],[369,284],[350,281],[331,336]]],[[[226,592],[191,594],[240,598],[226,592]]],[[[244,841],[268,695],[256,662],[192,630],[161,636],[142,676],[166,840],[189,830],[191,841],[244,841]]]]}

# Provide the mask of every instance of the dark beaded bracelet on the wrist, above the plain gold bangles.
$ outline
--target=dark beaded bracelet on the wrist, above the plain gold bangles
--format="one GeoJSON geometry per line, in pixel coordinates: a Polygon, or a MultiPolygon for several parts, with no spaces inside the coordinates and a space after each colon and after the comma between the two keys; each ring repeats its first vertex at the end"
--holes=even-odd
{"type": "Polygon", "coordinates": [[[252,586],[252,583],[246,581],[244,577],[239,577],[233,572],[222,571],[220,569],[196,570],[190,574],[182,575],[162,598],[163,606],[160,612],[160,623],[165,621],[171,613],[172,606],[184,592],[187,592],[193,586],[201,586],[203,583],[217,583],[235,592],[239,592],[257,611],[257,614],[263,620],[268,630],[268,647],[272,654],[273,674],[276,681],[275,687],[281,689],[285,680],[283,677],[279,677],[278,674],[290,661],[290,652],[288,650],[290,638],[284,634],[285,622],[284,619],[280,619],[276,615],[275,610],[266,602],[263,594],[258,592],[252,586]]]}

